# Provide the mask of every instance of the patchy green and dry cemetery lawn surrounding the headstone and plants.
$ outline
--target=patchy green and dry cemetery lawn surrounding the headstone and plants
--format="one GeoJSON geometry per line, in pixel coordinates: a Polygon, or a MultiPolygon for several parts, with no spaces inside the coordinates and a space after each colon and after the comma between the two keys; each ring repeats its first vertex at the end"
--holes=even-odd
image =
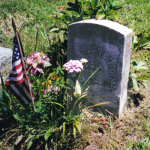
{"type": "MultiPolygon", "coordinates": [[[[74,2],[73,0],[70,1],[74,2]]],[[[67,28],[65,23],[54,19],[57,16],[56,14],[59,15],[58,6],[67,7],[67,0],[1,0],[0,3],[0,46],[13,48],[14,32],[11,17],[14,17],[21,34],[26,56],[29,56],[35,49],[40,52],[48,52],[49,39],[52,39],[53,44],[57,41],[58,32],[50,32],[52,27],[55,27],[55,29],[59,27],[67,28]]],[[[122,0],[122,5],[129,5],[131,9],[125,7],[119,10],[117,12],[120,17],[119,21],[127,23],[127,27],[131,28],[135,35],[150,37],[150,1],[122,0]]],[[[61,31],[59,34],[61,34],[61,31]]],[[[144,61],[147,66],[150,66],[149,50],[140,47],[136,50],[132,48],[131,58],[137,62],[144,61]]],[[[150,68],[142,70],[138,74],[150,78],[150,68]]],[[[107,113],[107,115],[104,114],[106,123],[97,121],[98,113],[92,112],[91,109],[83,110],[80,115],[81,134],[77,133],[75,139],[66,135],[65,139],[60,139],[54,144],[55,147],[62,150],[150,149],[150,83],[148,84],[147,89],[140,85],[138,92],[129,88],[127,108],[120,120],[113,114],[107,113]]],[[[10,131],[11,127],[8,127],[10,131]]],[[[12,131],[11,135],[5,139],[0,139],[0,149],[14,149],[17,136],[9,141],[13,133],[12,131]]],[[[20,149],[24,150],[27,143],[21,144],[20,149]]],[[[38,149],[38,147],[40,147],[40,144],[35,149],[38,149]]]]}

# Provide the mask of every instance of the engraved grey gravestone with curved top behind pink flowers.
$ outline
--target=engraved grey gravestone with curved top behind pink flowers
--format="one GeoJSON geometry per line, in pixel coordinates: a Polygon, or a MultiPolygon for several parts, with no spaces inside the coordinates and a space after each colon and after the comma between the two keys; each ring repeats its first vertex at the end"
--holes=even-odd
{"type": "Polygon", "coordinates": [[[121,117],[127,102],[132,30],[108,20],[83,20],[68,25],[67,60],[86,58],[81,85],[97,69],[85,87],[88,97],[103,113],[121,117]],[[108,112],[107,111],[107,112],[108,112]]]}

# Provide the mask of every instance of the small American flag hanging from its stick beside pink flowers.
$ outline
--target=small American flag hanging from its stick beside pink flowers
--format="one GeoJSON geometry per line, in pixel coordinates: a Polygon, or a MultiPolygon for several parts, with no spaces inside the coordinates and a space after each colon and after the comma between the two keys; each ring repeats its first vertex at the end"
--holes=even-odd
{"type": "MultiPolygon", "coordinates": [[[[19,37],[19,34],[18,34],[19,37]]],[[[20,38],[19,38],[20,40],[20,38]]],[[[20,42],[21,43],[21,42],[20,42]]],[[[21,45],[22,47],[22,45],[21,45]]],[[[21,48],[22,49],[22,48],[21,48]]],[[[22,49],[23,58],[25,60],[24,52],[22,49]]],[[[29,86],[31,88],[30,78],[28,77],[29,86]]],[[[29,91],[27,78],[25,77],[23,64],[21,61],[21,55],[19,52],[19,46],[17,42],[17,37],[14,37],[14,49],[12,56],[12,71],[5,83],[6,87],[10,90],[10,92],[16,96],[18,100],[20,100],[23,106],[26,106],[31,102],[31,96],[29,91]]],[[[32,91],[32,88],[31,88],[32,91]]],[[[34,93],[32,91],[32,98],[34,99],[34,93]]]]}

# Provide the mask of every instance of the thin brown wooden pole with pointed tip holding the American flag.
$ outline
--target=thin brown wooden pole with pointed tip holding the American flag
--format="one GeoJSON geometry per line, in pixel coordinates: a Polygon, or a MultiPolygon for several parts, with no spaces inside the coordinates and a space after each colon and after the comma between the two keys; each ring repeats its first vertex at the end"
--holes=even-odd
{"type": "Polygon", "coordinates": [[[31,87],[30,87],[27,72],[26,72],[26,67],[25,67],[25,62],[24,62],[24,58],[23,58],[23,54],[22,54],[22,48],[21,48],[20,40],[19,40],[19,37],[18,37],[18,32],[16,30],[16,25],[15,25],[15,22],[14,22],[13,18],[12,18],[12,25],[13,25],[13,28],[14,28],[14,31],[15,31],[15,34],[16,34],[16,38],[17,38],[17,42],[18,42],[18,46],[19,46],[19,51],[20,51],[20,55],[21,55],[21,61],[22,61],[23,69],[24,69],[24,74],[25,74],[25,77],[27,79],[28,88],[29,88],[29,92],[30,92],[30,96],[31,96],[33,112],[35,114],[35,112],[36,112],[35,111],[35,104],[34,104],[34,100],[33,100],[33,97],[32,97],[31,87]]]}

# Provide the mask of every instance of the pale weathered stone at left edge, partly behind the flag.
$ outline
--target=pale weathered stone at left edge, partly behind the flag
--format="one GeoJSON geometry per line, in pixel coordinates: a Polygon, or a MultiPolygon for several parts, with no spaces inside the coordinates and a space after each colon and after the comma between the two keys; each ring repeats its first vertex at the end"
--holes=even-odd
{"type": "Polygon", "coordinates": [[[0,70],[4,80],[8,77],[12,68],[12,53],[12,49],[0,47],[0,70]]]}

